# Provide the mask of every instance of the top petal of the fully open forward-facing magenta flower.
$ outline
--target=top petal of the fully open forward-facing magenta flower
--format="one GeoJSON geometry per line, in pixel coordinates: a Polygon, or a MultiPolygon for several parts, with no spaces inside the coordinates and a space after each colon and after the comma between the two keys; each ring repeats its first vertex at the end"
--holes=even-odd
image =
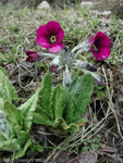
{"type": "Polygon", "coordinates": [[[59,29],[61,28],[60,24],[56,21],[48,22],[46,26],[48,32],[50,32],[50,35],[57,35],[59,29]]]}

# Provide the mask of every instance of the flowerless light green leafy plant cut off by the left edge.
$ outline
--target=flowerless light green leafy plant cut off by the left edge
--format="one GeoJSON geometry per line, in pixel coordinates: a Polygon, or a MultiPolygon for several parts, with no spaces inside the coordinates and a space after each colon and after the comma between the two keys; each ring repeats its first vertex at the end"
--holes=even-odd
{"type": "Polygon", "coordinates": [[[13,159],[23,156],[32,145],[29,130],[38,92],[17,106],[17,93],[0,67],[0,151],[14,152],[13,159]]]}

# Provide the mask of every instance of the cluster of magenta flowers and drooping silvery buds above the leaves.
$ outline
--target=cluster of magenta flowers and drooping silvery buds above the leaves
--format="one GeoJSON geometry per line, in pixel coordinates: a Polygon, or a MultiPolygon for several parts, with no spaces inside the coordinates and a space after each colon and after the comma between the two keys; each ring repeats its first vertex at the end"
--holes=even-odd
{"type": "Polygon", "coordinates": [[[41,25],[37,29],[37,43],[46,48],[50,53],[26,51],[27,62],[44,61],[53,59],[50,63],[51,73],[65,68],[63,83],[69,87],[71,85],[70,70],[78,68],[84,73],[90,73],[97,85],[104,85],[102,78],[96,73],[97,67],[88,62],[77,60],[79,53],[91,52],[98,61],[102,61],[110,55],[110,39],[107,35],[99,32],[88,40],[78,43],[72,50],[63,46],[64,30],[58,22],[51,21],[41,25]]]}

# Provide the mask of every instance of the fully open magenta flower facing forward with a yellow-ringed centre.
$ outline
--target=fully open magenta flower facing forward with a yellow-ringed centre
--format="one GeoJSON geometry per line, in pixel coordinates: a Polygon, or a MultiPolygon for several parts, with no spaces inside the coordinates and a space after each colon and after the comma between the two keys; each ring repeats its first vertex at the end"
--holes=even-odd
{"type": "Polygon", "coordinates": [[[49,52],[59,52],[63,48],[64,32],[58,22],[51,21],[37,29],[37,43],[49,52]]]}

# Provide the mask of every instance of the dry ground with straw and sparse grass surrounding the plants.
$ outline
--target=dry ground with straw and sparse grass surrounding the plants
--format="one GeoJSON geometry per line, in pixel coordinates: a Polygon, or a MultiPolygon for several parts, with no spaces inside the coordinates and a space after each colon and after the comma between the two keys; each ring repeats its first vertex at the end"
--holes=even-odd
{"type": "MultiPolygon", "coordinates": [[[[98,67],[106,79],[106,87],[95,87],[95,92],[85,114],[89,123],[79,133],[64,139],[44,126],[33,126],[35,139],[42,146],[67,148],[67,152],[45,149],[28,156],[44,163],[123,163],[123,21],[110,12],[83,10],[79,7],[61,9],[23,8],[13,5],[0,11],[0,65],[7,71],[15,86],[20,103],[28,99],[48,71],[50,60],[44,63],[27,63],[26,50],[41,51],[36,42],[36,29],[49,21],[58,21],[64,29],[64,45],[72,49],[79,41],[97,32],[111,39],[111,55],[98,62],[88,54],[82,54],[98,67]],[[67,140],[67,141],[66,141],[67,140]],[[67,143],[66,143],[67,142],[67,143]]],[[[62,72],[53,74],[54,84],[62,82],[62,72]]],[[[5,152],[0,153],[1,158],[5,152]]],[[[27,158],[27,156],[25,156],[27,158]]]]}

